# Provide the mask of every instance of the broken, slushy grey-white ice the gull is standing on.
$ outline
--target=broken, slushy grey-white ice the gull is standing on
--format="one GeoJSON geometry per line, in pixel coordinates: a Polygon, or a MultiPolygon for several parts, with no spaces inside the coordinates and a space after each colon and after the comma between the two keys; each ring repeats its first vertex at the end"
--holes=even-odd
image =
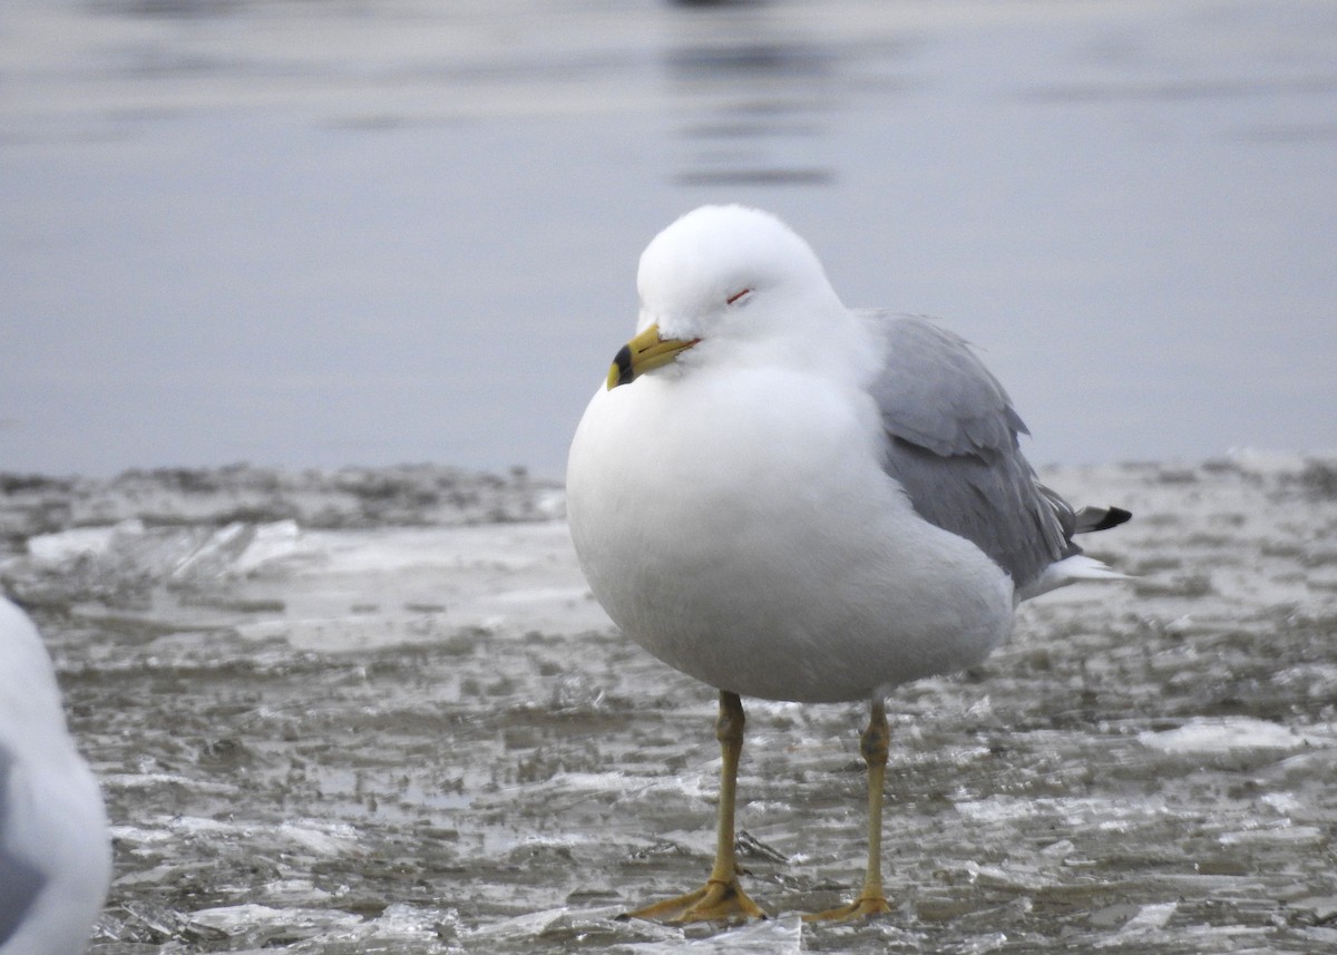
{"type": "Polygon", "coordinates": [[[862,708],[766,702],[739,825],[777,918],[614,918],[709,867],[714,694],[611,630],[541,482],[7,479],[0,582],[107,792],[98,955],[1313,952],[1337,943],[1334,475],[1047,472],[1136,514],[1091,543],[1139,576],[1027,605],[980,669],[893,696],[896,912],[860,926],[794,914],[858,879],[862,708]]]}

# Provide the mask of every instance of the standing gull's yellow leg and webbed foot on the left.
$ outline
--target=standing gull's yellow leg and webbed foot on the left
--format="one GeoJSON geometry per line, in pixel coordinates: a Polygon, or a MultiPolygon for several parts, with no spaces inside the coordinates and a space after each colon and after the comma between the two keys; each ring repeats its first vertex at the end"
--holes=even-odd
{"type": "Polygon", "coordinates": [[[723,753],[719,772],[719,817],[715,841],[715,864],[706,884],[677,899],[627,912],[622,918],[658,922],[710,922],[715,919],[765,919],[738,883],[738,857],[734,852],[734,800],[738,793],[738,757],[743,752],[743,701],[737,693],[719,693],[719,718],[715,738],[723,753]]]}

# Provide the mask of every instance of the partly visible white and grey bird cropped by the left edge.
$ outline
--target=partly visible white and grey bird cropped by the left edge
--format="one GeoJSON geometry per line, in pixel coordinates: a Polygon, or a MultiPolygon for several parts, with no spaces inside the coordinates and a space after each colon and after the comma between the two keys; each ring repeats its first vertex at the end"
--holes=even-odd
{"type": "Polygon", "coordinates": [[[102,792],[32,621],[0,597],[0,955],[88,947],[111,881],[102,792]]]}

